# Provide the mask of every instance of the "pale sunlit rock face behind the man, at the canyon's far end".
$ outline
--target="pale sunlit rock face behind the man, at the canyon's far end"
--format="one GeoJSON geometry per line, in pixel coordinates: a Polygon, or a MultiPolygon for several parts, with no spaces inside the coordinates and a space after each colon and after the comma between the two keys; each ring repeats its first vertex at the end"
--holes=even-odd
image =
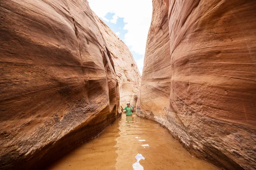
{"type": "Polygon", "coordinates": [[[107,43],[108,54],[113,60],[119,83],[120,105],[124,107],[127,102],[131,102],[135,107],[141,82],[140,71],[125,43],[102,20],[96,18],[99,30],[107,43]]]}

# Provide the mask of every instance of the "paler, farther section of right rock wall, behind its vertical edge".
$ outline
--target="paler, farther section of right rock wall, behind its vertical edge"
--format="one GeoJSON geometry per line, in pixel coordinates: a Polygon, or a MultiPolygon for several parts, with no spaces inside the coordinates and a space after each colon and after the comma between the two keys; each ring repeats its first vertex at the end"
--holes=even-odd
{"type": "MultiPolygon", "coordinates": [[[[147,48],[143,67],[138,110],[143,108],[146,115],[159,114],[169,105],[170,82],[172,77],[168,8],[153,1],[152,23],[148,32],[147,48]],[[140,102],[141,101],[141,102],[140,102]]],[[[137,114],[140,114],[137,112],[137,114]]],[[[145,115],[145,116],[146,116],[145,115]]]]}

